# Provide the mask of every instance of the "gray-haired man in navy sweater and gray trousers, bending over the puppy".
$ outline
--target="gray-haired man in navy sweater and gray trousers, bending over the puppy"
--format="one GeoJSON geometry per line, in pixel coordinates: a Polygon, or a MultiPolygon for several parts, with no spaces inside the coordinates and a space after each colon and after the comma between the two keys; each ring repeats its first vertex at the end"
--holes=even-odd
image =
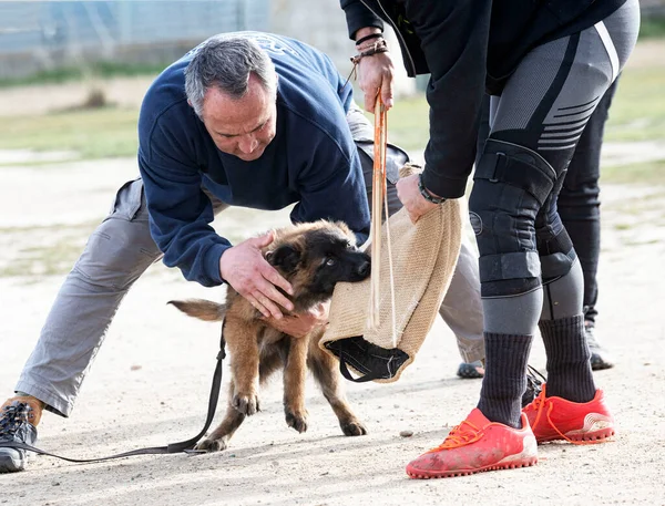
{"type": "MultiPolygon", "coordinates": [[[[227,282],[272,324],[307,333],[324,312],[283,318],[289,283],[263,258],[270,234],[232,246],[209,226],[228,206],[282,209],[291,219],[346,221],[369,231],[372,127],[331,61],[293,39],[245,32],[214,37],[167,68],[139,120],[141,178],[125,184],[68,276],[40,340],[0,412],[0,441],[32,444],[42,410],[69,416],[121,300],[162,255],[186,279],[227,282]]],[[[389,149],[389,206],[407,155],[389,149]]],[[[441,313],[458,335],[481,341],[474,256],[462,251],[441,313]]],[[[0,472],[24,467],[0,448],[0,472]]]]}

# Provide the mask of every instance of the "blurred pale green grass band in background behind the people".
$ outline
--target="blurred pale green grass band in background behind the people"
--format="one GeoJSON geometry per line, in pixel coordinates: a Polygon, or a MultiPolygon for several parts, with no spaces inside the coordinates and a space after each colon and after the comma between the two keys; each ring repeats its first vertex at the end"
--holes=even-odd
{"type": "MultiPolygon", "coordinates": [[[[662,47],[665,52],[665,43],[662,47]]],[[[661,54],[654,58],[657,61],[661,54]]],[[[143,70],[154,72],[155,69],[143,70]]],[[[117,72],[129,75],[136,71],[132,65],[111,65],[99,70],[109,75],[117,75],[117,72]]],[[[665,140],[664,92],[665,65],[655,63],[628,68],[621,78],[610,111],[606,141],[665,140]]],[[[106,106],[42,116],[3,117],[0,121],[0,148],[74,151],[82,158],[134,156],[137,116],[137,110],[106,106]]],[[[389,114],[388,125],[391,142],[412,152],[424,149],[429,133],[424,97],[398,100],[389,114]]]]}

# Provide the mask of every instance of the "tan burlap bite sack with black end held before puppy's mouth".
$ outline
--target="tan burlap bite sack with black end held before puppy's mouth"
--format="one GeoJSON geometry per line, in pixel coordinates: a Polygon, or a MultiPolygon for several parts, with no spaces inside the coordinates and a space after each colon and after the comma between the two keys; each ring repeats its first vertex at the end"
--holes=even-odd
{"type": "MultiPolygon", "coordinates": [[[[367,329],[370,280],[337,283],[330,324],[319,347],[339,360],[350,381],[397,381],[416,358],[450,286],[460,252],[459,199],[447,200],[411,224],[406,209],[389,220],[395,273],[397,347],[392,317],[386,224],[381,230],[380,326],[367,329]],[[349,369],[359,378],[354,378],[349,369]]],[[[368,248],[368,251],[370,249],[368,248]]]]}

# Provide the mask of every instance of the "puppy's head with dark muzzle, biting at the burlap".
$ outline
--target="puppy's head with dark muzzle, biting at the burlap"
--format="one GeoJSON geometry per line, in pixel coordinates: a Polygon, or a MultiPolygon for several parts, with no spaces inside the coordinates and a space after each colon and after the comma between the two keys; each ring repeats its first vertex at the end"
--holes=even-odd
{"type": "Polygon", "coordinates": [[[294,287],[294,304],[307,308],[332,296],[340,281],[362,281],[370,275],[370,257],[356,247],[342,223],[326,220],[278,233],[266,258],[294,287]]]}

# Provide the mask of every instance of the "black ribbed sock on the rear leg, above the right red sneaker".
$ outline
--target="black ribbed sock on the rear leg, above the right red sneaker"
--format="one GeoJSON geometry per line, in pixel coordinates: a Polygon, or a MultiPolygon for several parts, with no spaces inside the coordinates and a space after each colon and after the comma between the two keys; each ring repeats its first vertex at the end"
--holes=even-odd
{"type": "Polygon", "coordinates": [[[541,320],[538,326],[548,353],[546,395],[573,402],[591,401],[596,389],[584,334],[584,317],[541,320]]]}

